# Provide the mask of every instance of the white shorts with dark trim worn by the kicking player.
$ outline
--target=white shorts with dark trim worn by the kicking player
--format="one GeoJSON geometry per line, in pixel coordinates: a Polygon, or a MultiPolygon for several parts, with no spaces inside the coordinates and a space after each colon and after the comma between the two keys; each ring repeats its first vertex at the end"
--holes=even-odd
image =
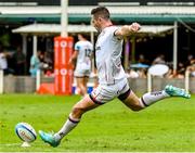
{"type": "Polygon", "coordinates": [[[91,94],[91,100],[96,104],[104,104],[112,101],[115,98],[125,100],[130,94],[129,82],[127,78],[118,81],[115,85],[99,85],[91,94]]]}

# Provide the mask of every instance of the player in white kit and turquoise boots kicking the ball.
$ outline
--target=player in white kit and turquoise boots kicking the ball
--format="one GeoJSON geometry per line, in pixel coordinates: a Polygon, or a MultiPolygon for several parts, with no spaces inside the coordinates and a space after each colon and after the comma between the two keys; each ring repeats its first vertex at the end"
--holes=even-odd
{"type": "Polygon", "coordinates": [[[167,85],[161,91],[148,92],[138,98],[129,87],[120,58],[123,37],[136,33],[141,26],[138,23],[119,28],[114,26],[109,18],[109,11],[104,7],[93,9],[91,15],[91,22],[100,33],[95,44],[99,86],[91,94],[86,95],[74,105],[69,117],[60,131],[54,135],[39,131],[41,139],[52,146],[57,146],[61,140],[78,125],[82,114],[115,98],[118,98],[132,111],[141,111],[166,98],[182,97],[188,99],[191,97],[184,89],[167,85]]]}

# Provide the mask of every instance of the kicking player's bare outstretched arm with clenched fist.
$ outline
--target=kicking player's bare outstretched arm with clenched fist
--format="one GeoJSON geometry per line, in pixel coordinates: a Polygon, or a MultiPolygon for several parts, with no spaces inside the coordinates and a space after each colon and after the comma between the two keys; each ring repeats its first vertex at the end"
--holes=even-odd
{"type": "Polygon", "coordinates": [[[139,31],[141,25],[139,23],[132,23],[131,25],[123,25],[115,31],[115,36],[118,37],[130,36],[131,34],[139,31]]]}

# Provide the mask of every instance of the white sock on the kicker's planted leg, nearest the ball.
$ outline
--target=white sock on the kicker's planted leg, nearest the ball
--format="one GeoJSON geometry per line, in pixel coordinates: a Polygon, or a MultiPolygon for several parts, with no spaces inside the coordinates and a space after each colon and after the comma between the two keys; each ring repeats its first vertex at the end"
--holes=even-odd
{"type": "Polygon", "coordinates": [[[54,135],[55,140],[58,141],[63,139],[63,137],[66,136],[70,130],[73,130],[78,125],[80,119],[73,118],[72,115],[69,115],[68,119],[61,128],[61,130],[54,135]]]}

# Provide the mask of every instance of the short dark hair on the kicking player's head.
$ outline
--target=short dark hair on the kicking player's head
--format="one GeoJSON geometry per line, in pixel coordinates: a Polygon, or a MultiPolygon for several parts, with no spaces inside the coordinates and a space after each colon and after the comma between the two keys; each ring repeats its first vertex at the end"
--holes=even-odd
{"type": "Polygon", "coordinates": [[[91,15],[95,18],[102,17],[104,20],[109,20],[109,11],[105,7],[98,7],[91,10],[91,15]]]}

